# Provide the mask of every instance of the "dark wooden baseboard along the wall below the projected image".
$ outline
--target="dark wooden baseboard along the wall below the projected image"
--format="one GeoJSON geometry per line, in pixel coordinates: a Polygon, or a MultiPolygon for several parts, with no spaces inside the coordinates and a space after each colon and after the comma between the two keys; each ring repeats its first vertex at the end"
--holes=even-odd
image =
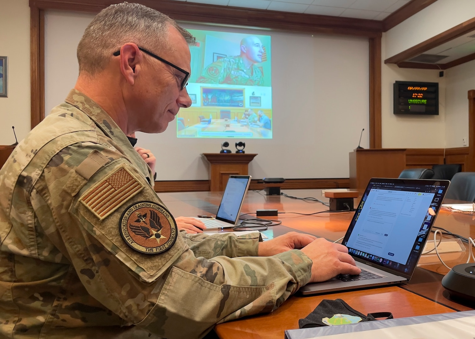
{"type": "MultiPolygon", "coordinates": [[[[349,188],[350,179],[286,179],[282,189],[349,188]]],[[[155,192],[198,192],[209,191],[209,180],[155,181],[155,192]]],[[[262,179],[252,179],[249,189],[264,189],[262,179]]]]}

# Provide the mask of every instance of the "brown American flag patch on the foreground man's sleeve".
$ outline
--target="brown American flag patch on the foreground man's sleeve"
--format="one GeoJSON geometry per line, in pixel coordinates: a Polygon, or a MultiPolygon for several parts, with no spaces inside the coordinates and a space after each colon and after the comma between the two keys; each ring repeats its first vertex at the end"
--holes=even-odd
{"type": "Polygon", "coordinates": [[[79,199],[99,220],[119,208],[125,201],[139,193],[143,184],[129,169],[121,166],[94,187],[88,189],[79,199]]]}

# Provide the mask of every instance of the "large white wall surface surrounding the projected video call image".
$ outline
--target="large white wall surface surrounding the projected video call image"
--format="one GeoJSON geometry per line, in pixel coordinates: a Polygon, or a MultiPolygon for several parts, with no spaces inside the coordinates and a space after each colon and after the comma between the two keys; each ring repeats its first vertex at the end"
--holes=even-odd
{"type": "MultiPolygon", "coordinates": [[[[62,102],[77,76],[76,46],[90,14],[47,11],[46,112],[62,102]]],[[[187,28],[242,31],[183,24],[187,28]]],[[[365,38],[259,31],[272,37],[272,140],[246,140],[254,178],[348,178],[348,153],[369,146],[369,44],[365,38]]],[[[157,179],[208,179],[200,153],[225,139],[178,139],[175,122],[161,134],[138,133],[157,156],[157,179]],[[160,167],[160,164],[164,164],[160,167]],[[166,165],[165,165],[166,164],[166,165]]],[[[234,149],[234,141],[231,148],[234,149]]]]}

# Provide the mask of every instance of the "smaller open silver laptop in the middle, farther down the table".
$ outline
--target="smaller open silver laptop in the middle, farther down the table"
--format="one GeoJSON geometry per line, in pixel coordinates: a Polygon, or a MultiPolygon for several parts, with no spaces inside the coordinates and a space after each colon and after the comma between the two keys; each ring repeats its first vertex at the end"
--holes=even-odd
{"type": "Polygon", "coordinates": [[[241,207],[251,183],[250,175],[230,175],[214,219],[200,219],[206,230],[237,226],[241,207]]]}

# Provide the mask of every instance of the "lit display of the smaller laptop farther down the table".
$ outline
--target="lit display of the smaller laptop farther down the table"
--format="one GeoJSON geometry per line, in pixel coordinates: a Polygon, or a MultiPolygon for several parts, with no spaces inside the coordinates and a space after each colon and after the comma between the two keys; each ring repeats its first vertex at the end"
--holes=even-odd
{"type": "Polygon", "coordinates": [[[249,176],[229,176],[216,219],[236,223],[249,181],[249,176]]]}

